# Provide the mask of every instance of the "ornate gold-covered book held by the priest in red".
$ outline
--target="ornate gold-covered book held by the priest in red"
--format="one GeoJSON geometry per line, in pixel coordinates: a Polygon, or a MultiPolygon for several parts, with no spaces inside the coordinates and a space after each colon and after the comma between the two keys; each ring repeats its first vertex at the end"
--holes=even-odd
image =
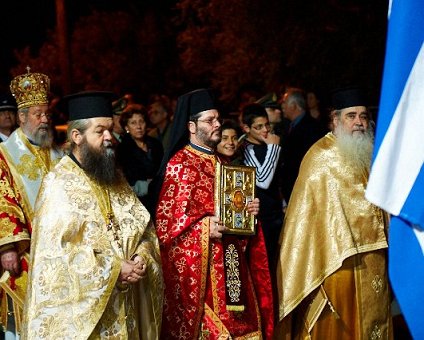
{"type": "Polygon", "coordinates": [[[228,228],[226,234],[255,234],[255,216],[247,212],[255,198],[255,176],[254,167],[216,163],[215,213],[228,228]]]}

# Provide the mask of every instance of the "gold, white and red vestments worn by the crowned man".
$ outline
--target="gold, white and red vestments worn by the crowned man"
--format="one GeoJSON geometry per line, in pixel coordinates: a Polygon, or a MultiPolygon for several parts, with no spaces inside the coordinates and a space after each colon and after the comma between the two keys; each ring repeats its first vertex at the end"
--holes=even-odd
{"type": "Polygon", "coordinates": [[[21,255],[22,273],[5,279],[2,287],[13,300],[1,299],[0,323],[7,327],[7,311],[15,316],[20,331],[22,301],[25,299],[31,221],[41,181],[63,156],[60,150],[42,149],[29,142],[18,128],[0,144],[0,248],[15,248],[21,255]]]}

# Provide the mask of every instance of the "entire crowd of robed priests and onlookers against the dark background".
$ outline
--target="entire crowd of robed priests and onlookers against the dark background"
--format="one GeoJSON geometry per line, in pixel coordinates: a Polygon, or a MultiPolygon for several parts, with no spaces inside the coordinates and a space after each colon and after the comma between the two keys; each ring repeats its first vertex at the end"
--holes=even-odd
{"type": "Polygon", "coordinates": [[[324,110],[287,87],[231,116],[211,89],[147,105],[83,91],[52,108],[49,86],[28,69],[0,96],[7,339],[392,338],[360,88],[324,110]],[[254,168],[254,235],[218,215],[217,164],[254,168]]]}

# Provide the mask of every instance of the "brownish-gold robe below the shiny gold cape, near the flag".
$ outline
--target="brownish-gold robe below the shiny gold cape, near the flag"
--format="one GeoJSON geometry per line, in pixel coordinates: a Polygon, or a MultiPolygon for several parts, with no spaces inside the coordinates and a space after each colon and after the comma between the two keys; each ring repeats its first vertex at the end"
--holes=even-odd
{"type": "MultiPolygon", "coordinates": [[[[308,332],[305,315],[310,297],[290,314],[291,339],[391,339],[389,287],[386,275],[385,250],[354,255],[343,266],[325,279],[324,289],[331,307],[326,304],[312,330],[308,332]]],[[[286,319],[284,319],[286,320],[286,319]]]]}

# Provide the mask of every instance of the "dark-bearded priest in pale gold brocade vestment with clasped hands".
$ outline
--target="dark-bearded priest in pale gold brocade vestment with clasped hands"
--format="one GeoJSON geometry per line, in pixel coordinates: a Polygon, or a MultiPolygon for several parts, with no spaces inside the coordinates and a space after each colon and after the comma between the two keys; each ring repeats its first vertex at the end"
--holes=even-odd
{"type": "Polygon", "coordinates": [[[159,243],[115,168],[110,93],[66,103],[71,153],[37,199],[22,338],[158,339],[159,243]]]}

